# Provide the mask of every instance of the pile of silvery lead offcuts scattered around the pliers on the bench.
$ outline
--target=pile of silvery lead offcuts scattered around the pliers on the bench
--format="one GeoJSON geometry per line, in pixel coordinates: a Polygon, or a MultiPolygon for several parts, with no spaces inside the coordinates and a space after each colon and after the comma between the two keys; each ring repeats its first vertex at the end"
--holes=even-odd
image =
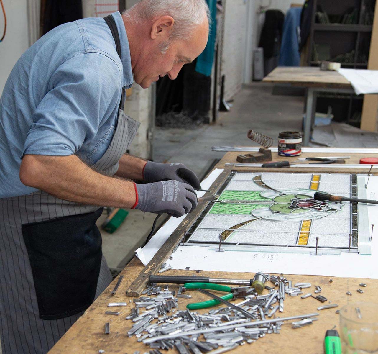
{"type": "MultiPolygon", "coordinates": [[[[297,283],[293,286],[291,280],[283,275],[266,274],[266,277],[274,284],[274,287],[265,286],[269,290],[266,295],[259,295],[252,287],[240,288],[243,289],[243,300],[234,305],[245,310],[244,312],[229,306],[210,309],[206,314],[180,311],[178,298],[190,298],[190,295],[182,295],[185,290],[182,286],[175,297],[175,291],[169,291],[167,285],[162,290],[157,284],[149,284],[143,292],[147,296],[135,299],[135,308],[126,317],[134,322],[127,333],[129,337],[135,335],[138,342],[150,346],[147,354],[160,354],[159,349],[174,347],[180,354],[201,354],[209,351],[218,354],[239,345],[253,343],[266,334],[278,334],[285,321],[296,320],[292,322],[292,327],[299,328],[318,319],[318,313],[276,317],[276,312],[283,312],[285,294],[301,295],[302,288],[310,287],[311,284],[297,283]]],[[[330,307],[337,305],[325,305],[318,309],[330,307]]]]}

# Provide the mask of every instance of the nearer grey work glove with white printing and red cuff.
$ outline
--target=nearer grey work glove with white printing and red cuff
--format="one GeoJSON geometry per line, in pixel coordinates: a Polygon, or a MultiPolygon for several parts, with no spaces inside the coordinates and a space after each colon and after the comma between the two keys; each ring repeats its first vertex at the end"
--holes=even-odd
{"type": "Polygon", "coordinates": [[[137,184],[135,209],[150,213],[168,213],[180,217],[197,207],[197,194],[192,186],[175,180],[137,184]]]}

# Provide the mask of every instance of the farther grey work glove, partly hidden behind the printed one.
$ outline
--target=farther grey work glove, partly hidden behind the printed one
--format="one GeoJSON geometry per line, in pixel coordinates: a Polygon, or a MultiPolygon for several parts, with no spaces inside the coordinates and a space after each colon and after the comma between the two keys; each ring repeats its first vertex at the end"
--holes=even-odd
{"type": "Polygon", "coordinates": [[[143,178],[147,182],[173,179],[190,184],[193,188],[201,188],[200,181],[195,173],[182,163],[156,163],[148,161],[143,169],[143,178]]]}

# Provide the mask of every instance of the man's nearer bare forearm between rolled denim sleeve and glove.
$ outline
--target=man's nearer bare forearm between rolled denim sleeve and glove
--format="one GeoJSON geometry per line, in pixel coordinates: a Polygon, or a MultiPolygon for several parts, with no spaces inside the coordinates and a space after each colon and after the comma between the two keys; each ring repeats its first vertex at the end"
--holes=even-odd
{"type": "Polygon", "coordinates": [[[132,182],[99,174],[75,155],[25,155],[20,180],[27,186],[77,203],[130,208],[136,201],[132,182]]]}

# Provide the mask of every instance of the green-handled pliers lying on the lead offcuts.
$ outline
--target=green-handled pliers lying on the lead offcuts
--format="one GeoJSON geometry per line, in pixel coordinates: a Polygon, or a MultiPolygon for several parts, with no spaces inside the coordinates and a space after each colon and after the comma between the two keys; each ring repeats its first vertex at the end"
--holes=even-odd
{"type": "MultiPolygon", "coordinates": [[[[219,285],[214,283],[185,283],[185,289],[210,289],[210,290],[217,290],[227,292],[228,294],[221,296],[223,300],[231,300],[234,297],[245,296],[249,288],[240,288],[240,287],[229,287],[225,285],[219,285]]],[[[215,305],[220,304],[218,300],[208,300],[202,301],[198,303],[187,304],[186,308],[189,310],[198,310],[198,309],[205,309],[206,307],[212,307],[215,305]]]]}

